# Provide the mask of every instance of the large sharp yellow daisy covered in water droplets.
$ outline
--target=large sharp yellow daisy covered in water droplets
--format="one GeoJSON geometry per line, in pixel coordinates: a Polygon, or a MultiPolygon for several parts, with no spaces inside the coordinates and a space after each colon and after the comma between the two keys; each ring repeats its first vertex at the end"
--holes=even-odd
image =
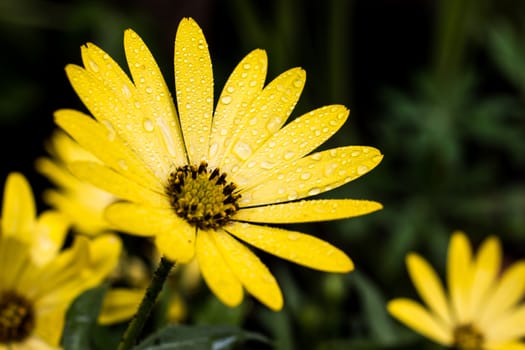
{"type": "Polygon", "coordinates": [[[183,19],[175,38],[177,110],[150,51],[124,33],[131,79],[97,46],[82,47],[84,67],[66,73],[95,119],[59,110],[56,123],[104,164],[74,162],[82,180],[125,201],[106,218],[123,232],[155,237],[165,257],[196,256],[210,289],[229,306],[243,289],[274,310],[280,288],[241,243],[311,268],[348,272],[341,250],[310,235],[259,224],[334,220],[367,214],[366,200],[302,200],[364,175],[382,159],[367,146],[311,153],[346,121],[341,105],[287,123],[305,82],[290,69],[266,86],[266,53],[250,52],[234,69],[213,109],[213,74],[201,28],[183,19]],[[177,113],[178,112],[178,113],[177,113]]]}

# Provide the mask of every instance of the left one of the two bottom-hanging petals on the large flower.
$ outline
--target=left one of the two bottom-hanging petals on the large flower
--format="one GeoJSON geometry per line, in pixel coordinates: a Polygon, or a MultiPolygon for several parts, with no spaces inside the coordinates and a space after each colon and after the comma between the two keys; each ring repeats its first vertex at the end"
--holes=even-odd
{"type": "Polygon", "coordinates": [[[213,294],[230,307],[239,305],[243,298],[241,282],[224,260],[209,232],[197,234],[196,256],[202,276],[213,294]]]}

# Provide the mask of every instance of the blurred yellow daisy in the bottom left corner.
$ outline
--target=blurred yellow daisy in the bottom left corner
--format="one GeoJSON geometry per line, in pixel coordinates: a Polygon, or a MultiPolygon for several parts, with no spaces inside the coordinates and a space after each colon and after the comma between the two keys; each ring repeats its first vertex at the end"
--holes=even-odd
{"type": "Polygon", "coordinates": [[[36,216],[22,174],[9,174],[0,221],[0,350],[55,349],[65,313],[116,264],[120,240],[78,237],[61,250],[69,227],[54,211],[36,216]]]}

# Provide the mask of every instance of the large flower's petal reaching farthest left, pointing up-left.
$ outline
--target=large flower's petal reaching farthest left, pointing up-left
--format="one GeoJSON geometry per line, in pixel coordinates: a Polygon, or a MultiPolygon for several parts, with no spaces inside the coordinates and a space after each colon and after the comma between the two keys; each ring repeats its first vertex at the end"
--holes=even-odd
{"type": "Polygon", "coordinates": [[[55,112],[55,122],[83,148],[116,172],[143,186],[162,191],[159,179],[114,130],[75,110],[55,112]]]}

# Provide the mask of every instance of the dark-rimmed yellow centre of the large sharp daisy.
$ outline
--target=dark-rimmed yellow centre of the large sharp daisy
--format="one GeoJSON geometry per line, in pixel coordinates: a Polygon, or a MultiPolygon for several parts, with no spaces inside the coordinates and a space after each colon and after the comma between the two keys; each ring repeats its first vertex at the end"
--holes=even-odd
{"type": "Polygon", "coordinates": [[[224,226],[239,209],[241,195],[235,189],[233,182],[226,181],[226,173],[201,162],[172,172],[166,193],[178,216],[201,230],[210,230],[224,226]]]}

